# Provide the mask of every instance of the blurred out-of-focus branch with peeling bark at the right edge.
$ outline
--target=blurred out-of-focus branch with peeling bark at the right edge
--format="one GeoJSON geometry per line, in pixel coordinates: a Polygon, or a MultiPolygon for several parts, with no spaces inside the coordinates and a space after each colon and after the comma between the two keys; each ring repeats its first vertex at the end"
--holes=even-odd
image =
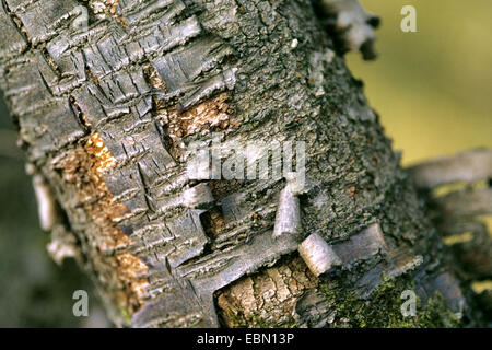
{"type": "Polygon", "coordinates": [[[430,217],[436,218],[436,226],[448,242],[468,236],[450,246],[461,278],[469,282],[490,279],[492,238],[479,218],[492,213],[492,151],[477,149],[431,160],[411,166],[409,173],[420,189],[447,190],[431,199],[430,217]]]}

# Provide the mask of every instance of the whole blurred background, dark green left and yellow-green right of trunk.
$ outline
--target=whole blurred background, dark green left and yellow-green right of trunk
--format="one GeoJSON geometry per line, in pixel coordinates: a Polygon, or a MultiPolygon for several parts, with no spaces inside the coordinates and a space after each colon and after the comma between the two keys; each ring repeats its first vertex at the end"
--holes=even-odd
{"type": "MultiPolygon", "coordinates": [[[[475,147],[492,147],[492,1],[362,0],[378,14],[374,62],[348,55],[365,82],[403,165],[475,147]],[[400,30],[400,10],[417,9],[418,33],[400,30]]],[[[48,234],[36,203],[16,133],[0,104],[0,327],[107,326],[93,287],[73,261],[47,256],[48,234]],[[90,292],[92,318],[72,315],[72,293],[90,292]]]]}

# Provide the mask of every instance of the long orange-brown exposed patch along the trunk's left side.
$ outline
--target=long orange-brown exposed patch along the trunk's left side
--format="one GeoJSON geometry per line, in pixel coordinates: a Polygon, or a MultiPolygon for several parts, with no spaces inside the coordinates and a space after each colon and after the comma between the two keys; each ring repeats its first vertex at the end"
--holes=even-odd
{"type": "Polygon", "coordinates": [[[74,206],[82,207],[98,229],[86,237],[87,254],[97,265],[99,281],[109,284],[105,290],[112,291],[118,305],[134,313],[143,304],[141,298],[148,285],[143,276],[148,267],[128,252],[132,242],[117,222],[128,215],[129,210],[115,200],[101,176],[116,165],[101,136],[93,132],[57,159],[55,167],[61,171],[66,183],[77,188],[74,206]]]}

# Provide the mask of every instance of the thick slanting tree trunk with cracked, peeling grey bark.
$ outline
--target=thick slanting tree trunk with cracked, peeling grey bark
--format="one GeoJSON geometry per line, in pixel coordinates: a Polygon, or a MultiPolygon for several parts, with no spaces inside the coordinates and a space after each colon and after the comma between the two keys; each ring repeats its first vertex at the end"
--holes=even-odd
{"type": "Polygon", "coordinates": [[[48,249],[89,271],[116,325],[473,322],[341,56],[355,45],[370,57],[371,32],[339,42],[320,12],[280,0],[2,1],[1,88],[48,249]],[[191,176],[190,145],[219,141],[224,164],[235,144],[305,142],[305,186],[191,176]],[[408,320],[406,289],[444,301],[408,320]]]}

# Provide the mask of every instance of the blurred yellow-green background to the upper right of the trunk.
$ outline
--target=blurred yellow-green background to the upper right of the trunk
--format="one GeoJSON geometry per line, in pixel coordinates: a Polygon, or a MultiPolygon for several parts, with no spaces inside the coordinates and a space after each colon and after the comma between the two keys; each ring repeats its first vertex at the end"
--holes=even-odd
{"type": "Polygon", "coordinates": [[[382,18],[376,61],[352,52],[394,148],[408,165],[492,147],[492,1],[361,0],[382,18]],[[403,33],[403,5],[417,10],[417,33],[403,33]]]}

